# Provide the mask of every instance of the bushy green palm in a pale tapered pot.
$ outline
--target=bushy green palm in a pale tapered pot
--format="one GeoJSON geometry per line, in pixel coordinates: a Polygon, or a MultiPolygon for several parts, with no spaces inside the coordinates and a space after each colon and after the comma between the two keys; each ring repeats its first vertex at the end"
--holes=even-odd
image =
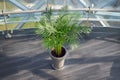
{"type": "Polygon", "coordinates": [[[88,33],[87,26],[81,26],[76,20],[80,14],[69,13],[61,10],[58,15],[53,15],[53,11],[47,10],[40,21],[36,23],[36,33],[42,36],[43,44],[51,49],[50,56],[53,60],[54,69],[63,69],[67,50],[64,44],[75,43],[78,34],[88,33]]]}

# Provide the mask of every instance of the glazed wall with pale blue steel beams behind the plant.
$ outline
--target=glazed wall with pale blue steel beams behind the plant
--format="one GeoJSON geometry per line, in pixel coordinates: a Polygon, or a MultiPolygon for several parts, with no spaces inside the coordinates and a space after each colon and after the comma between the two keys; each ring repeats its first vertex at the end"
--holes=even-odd
{"type": "Polygon", "coordinates": [[[81,13],[81,24],[89,20],[90,26],[94,27],[120,27],[120,0],[0,0],[0,29],[5,24],[5,17],[6,24],[15,24],[13,28],[20,29],[40,20],[41,12],[34,11],[45,11],[50,6],[60,9],[65,5],[72,12],[81,13]]]}

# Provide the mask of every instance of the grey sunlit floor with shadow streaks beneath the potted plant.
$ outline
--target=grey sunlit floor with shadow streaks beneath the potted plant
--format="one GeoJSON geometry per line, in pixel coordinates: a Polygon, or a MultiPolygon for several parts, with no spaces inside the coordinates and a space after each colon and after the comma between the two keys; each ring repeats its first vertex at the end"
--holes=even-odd
{"type": "Polygon", "coordinates": [[[120,35],[92,35],[69,50],[60,71],[38,37],[2,39],[0,80],[120,80],[120,35]]]}

